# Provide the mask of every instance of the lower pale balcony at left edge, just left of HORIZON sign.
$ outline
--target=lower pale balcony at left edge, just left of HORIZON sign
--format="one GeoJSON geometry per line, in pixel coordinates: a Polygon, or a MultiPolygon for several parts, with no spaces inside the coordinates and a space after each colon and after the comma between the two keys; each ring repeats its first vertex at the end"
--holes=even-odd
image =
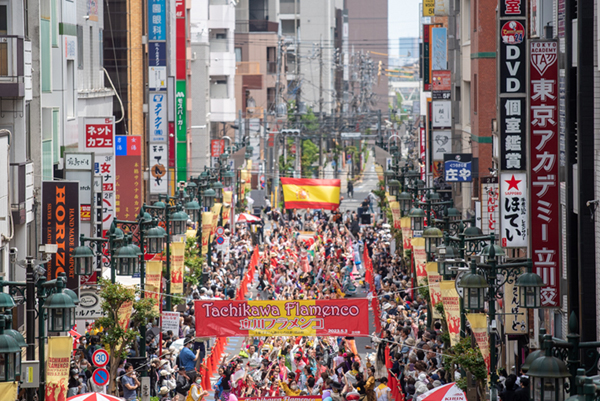
{"type": "Polygon", "coordinates": [[[27,223],[27,212],[33,207],[33,162],[11,163],[11,204],[15,224],[27,223]]]}

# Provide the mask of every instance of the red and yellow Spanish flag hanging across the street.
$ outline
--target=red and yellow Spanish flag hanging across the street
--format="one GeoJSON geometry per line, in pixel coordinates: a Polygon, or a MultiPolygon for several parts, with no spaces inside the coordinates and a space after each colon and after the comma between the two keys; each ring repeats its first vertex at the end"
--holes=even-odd
{"type": "Polygon", "coordinates": [[[281,178],[286,209],[335,210],[340,206],[340,180],[281,178]]]}

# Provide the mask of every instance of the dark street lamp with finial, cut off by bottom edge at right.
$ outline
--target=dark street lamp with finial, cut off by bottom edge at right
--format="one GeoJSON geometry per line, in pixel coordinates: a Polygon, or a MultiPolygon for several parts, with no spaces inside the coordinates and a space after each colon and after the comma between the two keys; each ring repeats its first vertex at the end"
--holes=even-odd
{"type": "MultiPolygon", "coordinates": [[[[546,334],[544,342],[552,341],[546,334]]],[[[527,375],[531,381],[531,399],[535,401],[563,401],[565,399],[565,379],[571,374],[565,363],[552,356],[552,347],[545,345],[545,355],[536,358],[529,367],[527,375]]]]}

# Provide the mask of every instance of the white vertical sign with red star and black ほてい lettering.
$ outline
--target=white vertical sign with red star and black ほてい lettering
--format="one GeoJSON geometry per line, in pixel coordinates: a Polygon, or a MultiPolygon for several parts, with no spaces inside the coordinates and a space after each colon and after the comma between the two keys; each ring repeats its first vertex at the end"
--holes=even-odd
{"type": "Polygon", "coordinates": [[[501,195],[501,241],[503,248],[526,248],[527,224],[527,174],[502,173],[501,195]]]}

